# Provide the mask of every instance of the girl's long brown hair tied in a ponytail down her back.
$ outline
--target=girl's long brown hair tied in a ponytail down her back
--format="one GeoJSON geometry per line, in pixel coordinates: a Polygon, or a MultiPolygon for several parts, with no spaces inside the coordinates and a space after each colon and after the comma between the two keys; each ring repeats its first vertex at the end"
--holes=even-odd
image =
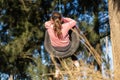
{"type": "Polygon", "coordinates": [[[54,26],[53,26],[53,29],[54,29],[54,32],[55,32],[55,35],[59,38],[59,39],[62,39],[62,32],[61,32],[61,18],[62,18],[62,15],[59,13],[59,12],[53,12],[52,13],[52,20],[54,21],[54,26]]]}

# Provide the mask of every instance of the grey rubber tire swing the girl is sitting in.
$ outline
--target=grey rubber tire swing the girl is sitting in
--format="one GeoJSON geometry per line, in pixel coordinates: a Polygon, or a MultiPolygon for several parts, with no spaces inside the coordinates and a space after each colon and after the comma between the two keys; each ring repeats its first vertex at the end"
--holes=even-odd
{"type": "Polygon", "coordinates": [[[79,39],[78,34],[76,33],[76,32],[78,32],[77,28],[74,27],[73,29],[74,29],[74,31],[72,31],[72,30],[69,31],[71,46],[67,51],[64,51],[64,52],[57,51],[51,46],[49,35],[48,35],[48,32],[46,31],[45,32],[45,40],[44,40],[44,46],[45,46],[46,51],[49,54],[53,54],[54,57],[57,57],[57,58],[65,58],[65,57],[69,57],[72,54],[74,54],[79,47],[80,39],[79,39]]]}

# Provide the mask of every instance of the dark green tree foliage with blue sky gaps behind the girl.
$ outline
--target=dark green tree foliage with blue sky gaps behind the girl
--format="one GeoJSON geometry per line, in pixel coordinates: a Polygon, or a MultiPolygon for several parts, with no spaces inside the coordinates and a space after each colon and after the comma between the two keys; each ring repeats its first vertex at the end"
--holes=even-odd
{"type": "MultiPolygon", "coordinates": [[[[103,4],[101,0],[62,0],[61,3],[56,0],[1,0],[0,71],[28,79],[30,77],[33,79],[32,75],[37,74],[34,73],[34,69],[39,74],[47,73],[48,66],[42,63],[43,54],[40,46],[44,41],[44,22],[54,10],[61,10],[63,16],[76,19],[83,34],[96,47],[101,39],[98,14],[102,11],[99,6],[103,4]],[[36,54],[39,54],[39,57],[34,57],[36,54]],[[27,68],[30,73],[27,72],[27,68]]],[[[87,52],[83,45],[79,50],[87,52]]],[[[50,61],[45,51],[44,57],[50,61]]]]}

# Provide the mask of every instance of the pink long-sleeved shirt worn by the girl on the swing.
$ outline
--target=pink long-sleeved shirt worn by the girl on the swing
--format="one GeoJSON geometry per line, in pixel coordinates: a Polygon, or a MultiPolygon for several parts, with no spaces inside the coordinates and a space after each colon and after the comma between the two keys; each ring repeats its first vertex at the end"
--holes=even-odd
{"type": "Polygon", "coordinates": [[[71,19],[71,18],[63,18],[62,21],[64,22],[62,24],[62,39],[59,39],[55,34],[54,34],[54,30],[53,30],[53,21],[47,21],[45,22],[45,28],[48,31],[49,37],[50,37],[50,41],[51,41],[51,45],[54,47],[65,47],[69,44],[70,40],[69,40],[69,35],[68,35],[68,31],[74,27],[76,25],[76,21],[71,19]]]}

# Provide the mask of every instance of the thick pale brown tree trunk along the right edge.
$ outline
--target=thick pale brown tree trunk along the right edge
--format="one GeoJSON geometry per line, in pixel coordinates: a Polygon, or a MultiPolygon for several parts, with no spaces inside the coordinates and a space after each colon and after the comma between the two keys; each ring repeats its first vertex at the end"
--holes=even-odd
{"type": "MultiPolygon", "coordinates": [[[[109,21],[111,30],[111,42],[114,64],[114,80],[120,78],[120,11],[116,0],[108,0],[109,21]]],[[[117,0],[119,1],[119,0],[117,0]]]]}

